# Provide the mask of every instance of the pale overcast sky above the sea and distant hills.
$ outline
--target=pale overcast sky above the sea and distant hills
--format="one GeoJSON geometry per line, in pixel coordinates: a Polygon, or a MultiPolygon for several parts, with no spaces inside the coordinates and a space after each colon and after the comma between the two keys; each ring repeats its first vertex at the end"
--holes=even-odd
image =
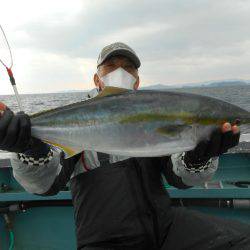
{"type": "MultiPolygon", "coordinates": [[[[20,93],[93,88],[98,54],[116,41],[140,57],[142,86],[250,79],[247,0],[8,0],[0,24],[20,93]]],[[[0,58],[9,62],[2,34],[0,58]]]]}

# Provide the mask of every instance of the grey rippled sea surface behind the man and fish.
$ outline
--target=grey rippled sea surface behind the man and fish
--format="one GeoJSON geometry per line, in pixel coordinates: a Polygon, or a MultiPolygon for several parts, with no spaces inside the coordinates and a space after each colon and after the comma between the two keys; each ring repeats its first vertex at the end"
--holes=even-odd
{"type": "MultiPolygon", "coordinates": [[[[224,87],[186,87],[169,89],[195,93],[218,98],[250,111],[250,85],[224,86],[224,87]]],[[[38,111],[60,107],[66,104],[86,99],[87,92],[50,93],[50,94],[26,94],[21,95],[24,111],[28,114],[38,111]]],[[[0,101],[9,106],[13,111],[19,111],[14,95],[0,95],[0,101]]],[[[250,143],[242,143],[237,150],[249,150],[250,143]]]]}

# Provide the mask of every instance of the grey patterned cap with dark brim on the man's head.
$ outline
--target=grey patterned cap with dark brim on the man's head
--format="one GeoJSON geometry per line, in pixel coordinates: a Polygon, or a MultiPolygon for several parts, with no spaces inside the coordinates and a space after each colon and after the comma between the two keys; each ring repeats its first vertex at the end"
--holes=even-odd
{"type": "Polygon", "coordinates": [[[105,46],[97,60],[97,67],[99,67],[106,59],[111,56],[126,56],[129,58],[134,64],[136,68],[141,66],[141,62],[139,57],[136,55],[134,50],[132,50],[128,45],[121,42],[112,43],[110,45],[105,46]]]}

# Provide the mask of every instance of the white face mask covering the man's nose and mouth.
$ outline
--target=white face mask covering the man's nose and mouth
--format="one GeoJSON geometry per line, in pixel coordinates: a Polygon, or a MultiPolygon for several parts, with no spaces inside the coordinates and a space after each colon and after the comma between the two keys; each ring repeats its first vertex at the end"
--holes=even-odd
{"type": "Polygon", "coordinates": [[[134,89],[134,85],[136,82],[136,78],[121,67],[108,73],[105,76],[100,77],[100,79],[103,81],[104,86],[112,86],[125,89],[134,89]]]}

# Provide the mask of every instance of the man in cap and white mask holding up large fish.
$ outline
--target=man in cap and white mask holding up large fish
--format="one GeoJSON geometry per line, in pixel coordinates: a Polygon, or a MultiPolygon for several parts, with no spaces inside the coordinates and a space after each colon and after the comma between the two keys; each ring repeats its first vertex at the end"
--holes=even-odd
{"type": "MultiPolygon", "coordinates": [[[[94,82],[136,90],[140,60],[123,43],[103,48],[94,82]]],[[[2,110],[4,108],[2,107],[2,110]]],[[[28,115],[9,109],[0,119],[0,148],[12,152],[13,174],[31,193],[54,195],[68,181],[78,249],[249,249],[247,225],[172,208],[162,177],[177,188],[212,178],[218,156],[239,142],[239,128],[225,123],[184,154],[128,158],[83,151],[70,159],[31,138],[28,115]]],[[[112,136],[112,135],[110,135],[112,136]]],[[[136,139],[136,138],[135,138],[136,139]]]]}

